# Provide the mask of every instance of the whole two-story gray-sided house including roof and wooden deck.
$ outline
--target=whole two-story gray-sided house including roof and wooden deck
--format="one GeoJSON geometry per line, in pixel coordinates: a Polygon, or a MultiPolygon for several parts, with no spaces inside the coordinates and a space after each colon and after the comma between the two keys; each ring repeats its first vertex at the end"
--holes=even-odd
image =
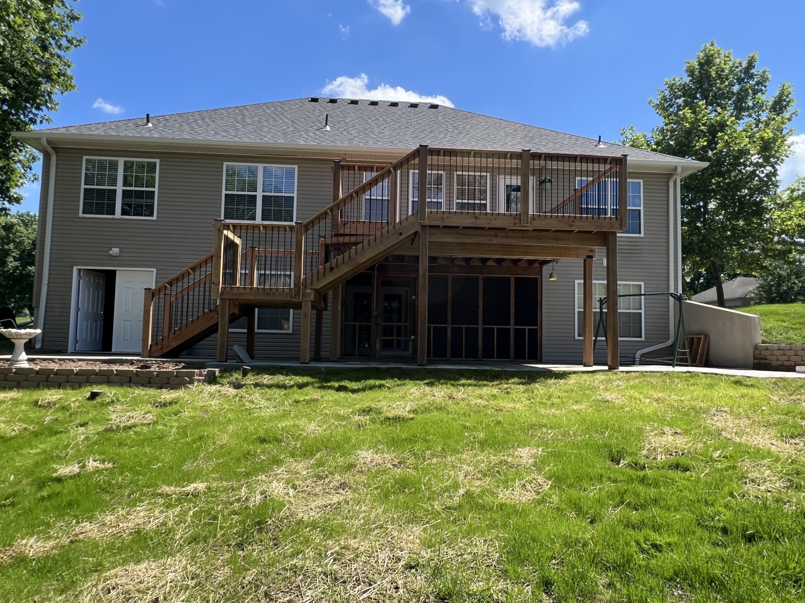
{"type": "Polygon", "coordinates": [[[597,300],[681,290],[706,166],[316,96],[14,135],[44,155],[38,345],[143,356],[617,367],[670,343],[671,301],[621,297],[594,359],[597,300]]]}

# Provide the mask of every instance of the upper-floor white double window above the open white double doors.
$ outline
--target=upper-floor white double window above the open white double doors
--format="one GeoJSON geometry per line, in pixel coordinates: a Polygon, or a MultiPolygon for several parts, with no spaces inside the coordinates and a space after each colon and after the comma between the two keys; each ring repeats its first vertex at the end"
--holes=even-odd
{"type": "Polygon", "coordinates": [[[82,216],[156,218],[159,159],[85,157],[82,216]]]}

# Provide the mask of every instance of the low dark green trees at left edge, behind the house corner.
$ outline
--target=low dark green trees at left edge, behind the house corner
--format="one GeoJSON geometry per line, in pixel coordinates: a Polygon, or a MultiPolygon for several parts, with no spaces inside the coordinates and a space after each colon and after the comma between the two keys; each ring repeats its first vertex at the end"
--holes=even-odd
{"type": "Polygon", "coordinates": [[[0,306],[33,308],[36,214],[0,215],[0,306]]]}

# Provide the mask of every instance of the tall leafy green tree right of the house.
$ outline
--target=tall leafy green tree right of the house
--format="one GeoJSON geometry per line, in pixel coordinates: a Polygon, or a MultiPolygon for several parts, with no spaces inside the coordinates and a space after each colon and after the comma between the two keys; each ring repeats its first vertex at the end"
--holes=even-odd
{"type": "Polygon", "coordinates": [[[662,125],[650,133],[621,130],[627,145],[710,163],[685,178],[682,251],[692,271],[712,273],[719,306],[722,271],[758,272],[799,246],[774,240],[781,232],[775,220],[797,218],[774,207],[786,200],[778,195],[778,168],[791,154],[797,112],[791,84],[770,95],[770,79],[756,53],[735,59],[713,41],[686,62],[684,77],[665,80],[649,100],[662,125]]]}

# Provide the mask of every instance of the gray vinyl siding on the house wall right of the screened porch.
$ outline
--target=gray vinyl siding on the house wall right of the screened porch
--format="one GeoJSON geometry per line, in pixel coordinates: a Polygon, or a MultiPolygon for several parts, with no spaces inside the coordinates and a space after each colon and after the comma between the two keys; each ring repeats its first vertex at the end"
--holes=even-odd
{"type": "MultiPolygon", "coordinates": [[[[617,280],[643,283],[643,292],[668,290],[668,178],[667,174],[635,174],[629,178],[643,181],[643,236],[617,237],[617,280]]],[[[604,248],[593,260],[592,278],[606,280],[604,248]]],[[[581,280],[583,260],[559,260],[555,267],[543,269],[543,361],[580,363],[582,342],[575,337],[575,282],[581,280]],[[548,281],[553,270],[558,277],[548,281]]],[[[644,340],[621,340],[621,363],[631,363],[634,353],[668,339],[668,298],[646,297],[643,305],[644,340]]],[[[668,355],[660,351],[659,355],[668,355]]],[[[657,354],[654,354],[657,355],[657,354]]],[[[599,341],[595,361],[606,363],[606,345],[599,341]]]]}

